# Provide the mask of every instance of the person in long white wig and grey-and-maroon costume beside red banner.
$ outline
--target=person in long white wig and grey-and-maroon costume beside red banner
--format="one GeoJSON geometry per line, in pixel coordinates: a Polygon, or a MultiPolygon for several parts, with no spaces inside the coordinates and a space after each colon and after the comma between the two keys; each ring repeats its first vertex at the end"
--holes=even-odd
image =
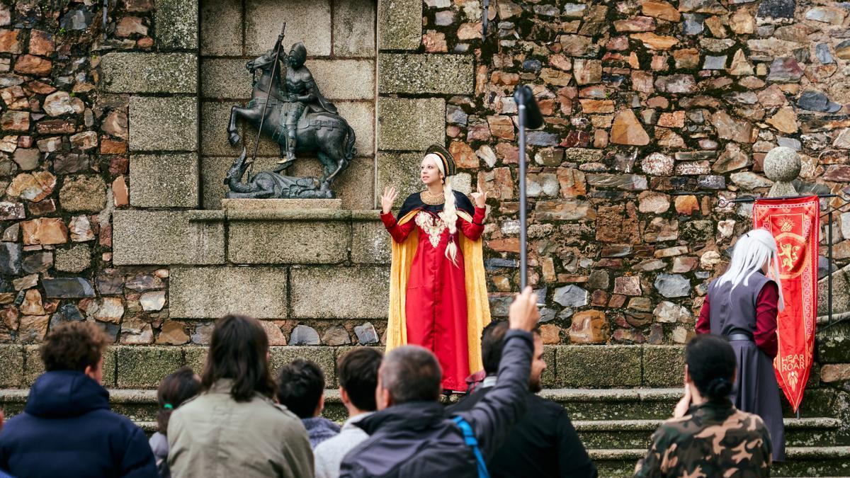
{"type": "Polygon", "coordinates": [[[755,413],[770,431],[773,459],[785,460],[785,426],[774,373],[778,350],[776,317],[785,308],[774,236],[756,229],[735,242],[723,276],[708,286],[697,333],[729,340],[738,360],[734,406],[755,413]]]}

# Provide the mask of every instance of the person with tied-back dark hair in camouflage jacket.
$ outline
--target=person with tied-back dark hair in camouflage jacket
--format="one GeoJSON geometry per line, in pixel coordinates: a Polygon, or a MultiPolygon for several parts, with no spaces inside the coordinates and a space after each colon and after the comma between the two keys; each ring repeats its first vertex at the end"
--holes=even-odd
{"type": "Polygon", "coordinates": [[[736,373],[732,346],[700,335],[685,347],[685,394],[673,418],[652,435],[636,477],[769,476],[770,435],[762,418],[729,400],[736,373]]]}

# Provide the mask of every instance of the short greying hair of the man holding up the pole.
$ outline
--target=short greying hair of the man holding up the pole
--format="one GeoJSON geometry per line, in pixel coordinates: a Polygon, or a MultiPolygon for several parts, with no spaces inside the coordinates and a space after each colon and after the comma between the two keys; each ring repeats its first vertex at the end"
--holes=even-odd
{"type": "Polygon", "coordinates": [[[439,400],[443,371],[437,357],[418,345],[403,345],[381,363],[381,385],[396,405],[409,401],[439,400]]]}

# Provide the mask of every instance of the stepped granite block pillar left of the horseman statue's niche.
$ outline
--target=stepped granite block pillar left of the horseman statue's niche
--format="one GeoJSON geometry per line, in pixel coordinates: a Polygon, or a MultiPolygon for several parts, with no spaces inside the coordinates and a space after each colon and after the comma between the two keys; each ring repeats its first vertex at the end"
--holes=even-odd
{"type": "Polygon", "coordinates": [[[155,53],[105,54],[99,88],[130,95],[130,206],[197,208],[197,0],[157,2],[155,37],[155,53]]]}

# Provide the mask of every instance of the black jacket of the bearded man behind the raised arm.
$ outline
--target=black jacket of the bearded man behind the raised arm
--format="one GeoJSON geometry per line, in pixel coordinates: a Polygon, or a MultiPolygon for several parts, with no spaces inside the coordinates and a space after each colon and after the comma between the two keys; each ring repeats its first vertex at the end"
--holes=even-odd
{"type": "MultiPolygon", "coordinates": [[[[469,410],[493,389],[477,390],[449,407],[449,413],[469,410]]],[[[528,413],[513,427],[501,450],[487,463],[490,476],[595,478],[596,466],[587,456],[564,407],[531,392],[526,393],[525,403],[528,413]]]]}

